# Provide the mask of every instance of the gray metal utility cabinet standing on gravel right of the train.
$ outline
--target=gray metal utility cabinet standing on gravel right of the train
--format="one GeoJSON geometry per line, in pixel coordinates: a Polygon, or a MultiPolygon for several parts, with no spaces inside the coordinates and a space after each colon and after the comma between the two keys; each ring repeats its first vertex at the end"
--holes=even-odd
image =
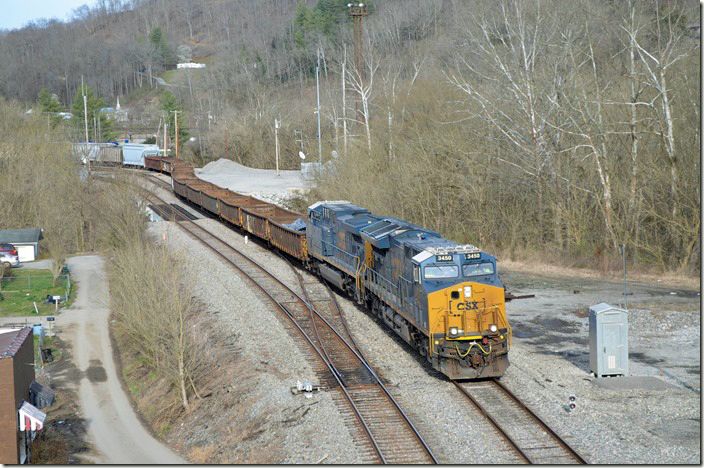
{"type": "Polygon", "coordinates": [[[597,377],[628,373],[628,311],[603,302],[589,308],[589,365],[597,377]]]}

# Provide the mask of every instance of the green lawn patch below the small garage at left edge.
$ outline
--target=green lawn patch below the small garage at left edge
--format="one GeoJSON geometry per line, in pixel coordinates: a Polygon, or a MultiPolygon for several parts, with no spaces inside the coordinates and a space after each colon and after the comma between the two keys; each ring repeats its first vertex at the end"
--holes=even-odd
{"type": "MultiPolygon", "coordinates": [[[[54,304],[46,304],[46,296],[63,296],[66,294],[67,280],[58,278],[53,285],[54,278],[49,270],[13,270],[12,276],[3,278],[2,296],[0,301],[0,317],[24,317],[37,315],[34,303],[37,303],[40,316],[56,313],[54,304]]],[[[73,286],[73,285],[71,285],[73,286]]],[[[73,294],[61,307],[71,305],[73,294]]]]}

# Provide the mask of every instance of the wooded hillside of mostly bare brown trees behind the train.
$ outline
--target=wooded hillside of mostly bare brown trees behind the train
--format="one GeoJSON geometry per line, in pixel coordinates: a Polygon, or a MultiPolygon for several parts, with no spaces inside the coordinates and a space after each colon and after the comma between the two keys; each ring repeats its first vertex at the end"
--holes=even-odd
{"type": "Polygon", "coordinates": [[[69,109],[83,75],[155,132],[168,89],[197,163],[273,167],[278,119],[283,167],[298,168],[301,144],[318,156],[319,54],[323,160],[339,156],[312,198],[514,258],[608,268],[626,244],[636,266],[698,270],[697,2],[368,11],[361,78],[346,1],[103,1],[0,36],[0,92],[30,103],[46,88],[69,109]],[[175,70],[191,59],[207,68],[175,70]]]}

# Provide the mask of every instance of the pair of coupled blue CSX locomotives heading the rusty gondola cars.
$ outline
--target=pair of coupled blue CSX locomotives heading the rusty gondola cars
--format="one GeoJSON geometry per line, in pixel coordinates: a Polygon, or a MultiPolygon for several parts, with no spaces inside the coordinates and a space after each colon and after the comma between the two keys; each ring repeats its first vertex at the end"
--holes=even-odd
{"type": "Polygon", "coordinates": [[[503,375],[511,327],[496,259],[349,202],[308,209],[312,268],[450,379],[503,375]]]}

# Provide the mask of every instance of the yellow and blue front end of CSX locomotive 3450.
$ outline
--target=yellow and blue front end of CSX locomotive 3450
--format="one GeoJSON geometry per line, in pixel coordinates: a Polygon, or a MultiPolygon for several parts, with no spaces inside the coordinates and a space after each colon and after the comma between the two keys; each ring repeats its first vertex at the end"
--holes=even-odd
{"type": "Polygon", "coordinates": [[[494,257],[453,249],[435,252],[421,268],[433,367],[453,380],[502,376],[511,327],[494,257]]]}

